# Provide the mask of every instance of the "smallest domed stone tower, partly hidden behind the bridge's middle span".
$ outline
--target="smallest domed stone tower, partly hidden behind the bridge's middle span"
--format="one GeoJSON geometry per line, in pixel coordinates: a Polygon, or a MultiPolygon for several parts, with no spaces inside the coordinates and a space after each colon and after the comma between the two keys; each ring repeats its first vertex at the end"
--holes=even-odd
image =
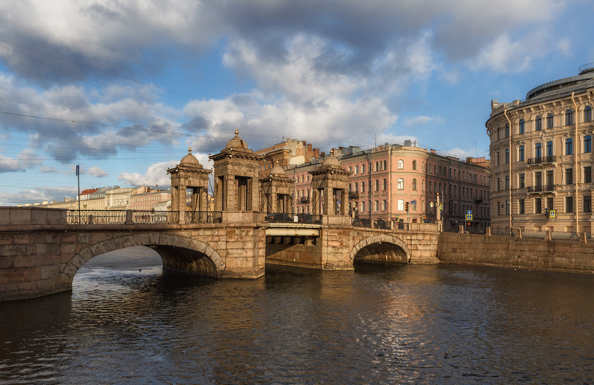
{"type": "Polygon", "coordinates": [[[295,180],[285,175],[285,169],[276,166],[270,170],[267,177],[260,179],[263,192],[262,209],[266,212],[285,212],[293,211],[293,185],[295,180]]]}

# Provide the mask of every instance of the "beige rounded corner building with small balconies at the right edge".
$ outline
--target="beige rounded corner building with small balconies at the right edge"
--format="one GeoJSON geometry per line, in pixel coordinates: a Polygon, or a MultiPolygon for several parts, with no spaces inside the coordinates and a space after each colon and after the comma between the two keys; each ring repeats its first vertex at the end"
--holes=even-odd
{"type": "Polygon", "coordinates": [[[525,101],[491,101],[495,229],[592,232],[594,67],[580,70],[533,88],[525,101]]]}

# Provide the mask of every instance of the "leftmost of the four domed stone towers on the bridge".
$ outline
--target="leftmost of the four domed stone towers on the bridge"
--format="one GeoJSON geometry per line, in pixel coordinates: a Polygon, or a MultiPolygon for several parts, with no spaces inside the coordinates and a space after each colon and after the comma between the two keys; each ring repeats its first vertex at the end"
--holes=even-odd
{"type": "MultiPolygon", "coordinates": [[[[181,162],[167,170],[171,174],[171,210],[172,211],[206,211],[208,194],[208,174],[198,159],[192,155],[192,149],[188,148],[188,154],[181,162]],[[192,203],[189,208],[186,206],[186,191],[192,189],[192,203]]],[[[185,218],[180,215],[180,221],[185,218]]]]}

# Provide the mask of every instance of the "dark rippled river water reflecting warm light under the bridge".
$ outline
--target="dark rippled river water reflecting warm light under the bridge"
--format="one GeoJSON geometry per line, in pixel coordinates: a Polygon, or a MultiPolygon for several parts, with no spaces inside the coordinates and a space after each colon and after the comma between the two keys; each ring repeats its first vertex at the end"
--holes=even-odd
{"type": "Polygon", "coordinates": [[[592,384],[593,292],[452,265],[199,279],[134,247],[72,292],[0,303],[0,383],[592,384]]]}

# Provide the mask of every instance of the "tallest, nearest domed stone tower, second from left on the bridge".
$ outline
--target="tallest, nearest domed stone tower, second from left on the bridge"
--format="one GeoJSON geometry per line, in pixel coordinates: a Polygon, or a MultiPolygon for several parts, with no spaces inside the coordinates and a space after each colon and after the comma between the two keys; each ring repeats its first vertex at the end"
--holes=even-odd
{"type": "Polygon", "coordinates": [[[225,149],[209,157],[214,161],[215,211],[258,210],[258,168],[263,157],[238,135],[235,130],[225,149]]]}

